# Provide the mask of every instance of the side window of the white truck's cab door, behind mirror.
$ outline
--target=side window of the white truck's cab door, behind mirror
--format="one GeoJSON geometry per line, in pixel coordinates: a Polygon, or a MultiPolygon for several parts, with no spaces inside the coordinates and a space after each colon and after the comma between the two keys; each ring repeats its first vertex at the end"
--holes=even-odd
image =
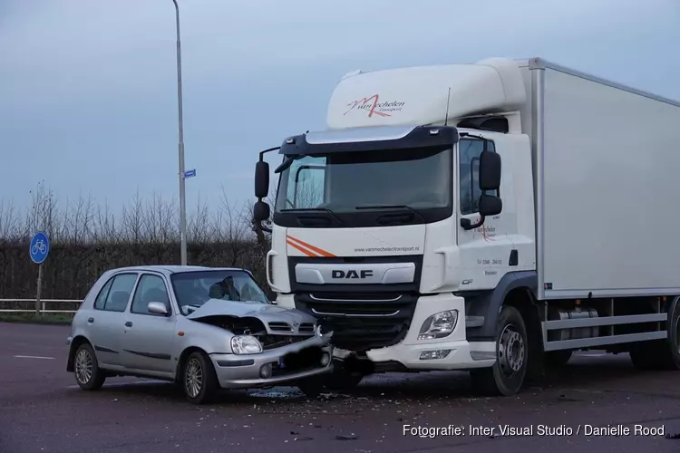
{"type": "MultiPolygon", "coordinates": [[[[484,149],[484,142],[476,139],[463,139],[458,146],[461,162],[461,215],[466,216],[479,210],[481,196],[479,180],[480,155],[484,149]]],[[[493,152],[496,151],[493,141],[487,141],[487,149],[493,152]]],[[[498,190],[488,191],[487,193],[498,196],[498,190]]]]}

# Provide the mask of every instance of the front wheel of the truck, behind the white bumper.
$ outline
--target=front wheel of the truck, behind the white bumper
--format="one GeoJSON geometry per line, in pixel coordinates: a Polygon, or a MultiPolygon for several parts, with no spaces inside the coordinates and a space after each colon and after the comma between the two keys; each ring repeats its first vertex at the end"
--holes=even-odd
{"type": "Polygon", "coordinates": [[[496,338],[496,363],[470,371],[472,389],[487,396],[514,395],[524,383],[529,363],[527,328],[518,309],[503,307],[496,338]]]}

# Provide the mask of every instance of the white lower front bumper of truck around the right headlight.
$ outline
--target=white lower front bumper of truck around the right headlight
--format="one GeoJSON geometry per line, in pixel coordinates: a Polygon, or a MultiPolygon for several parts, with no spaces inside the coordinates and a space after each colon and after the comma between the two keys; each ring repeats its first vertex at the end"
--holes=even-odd
{"type": "MultiPolygon", "coordinates": [[[[342,354],[338,351],[336,356],[342,357],[342,354]]],[[[453,294],[436,294],[418,299],[411,328],[402,342],[367,351],[366,356],[375,362],[396,361],[411,370],[469,370],[492,366],[496,361],[496,343],[468,342],[465,337],[465,300],[453,294]],[[427,318],[447,310],[458,312],[453,332],[440,339],[418,340],[421,326],[427,318]]]]}

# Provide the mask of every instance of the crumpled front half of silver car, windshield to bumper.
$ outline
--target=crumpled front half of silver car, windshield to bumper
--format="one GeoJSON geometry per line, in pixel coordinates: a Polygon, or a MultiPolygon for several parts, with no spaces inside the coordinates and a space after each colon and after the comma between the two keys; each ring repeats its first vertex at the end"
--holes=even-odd
{"type": "Polygon", "coordinates": [[[333,333],[323,332],[310,314],[272,304],[246,271],[197,270],[170,280],[183,333],[176,351],[185,355],[178,381],[189,400],[207,400],[218,387],[287,384],[309,392],[310,378],[332,371],[333,333]],[[192,349],[205,352],[202,361],[186,358],[192,349]]]}

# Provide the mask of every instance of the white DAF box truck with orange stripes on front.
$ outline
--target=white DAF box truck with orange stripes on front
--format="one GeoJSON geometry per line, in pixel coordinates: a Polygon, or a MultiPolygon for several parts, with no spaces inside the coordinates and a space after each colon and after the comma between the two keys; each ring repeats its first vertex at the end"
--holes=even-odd
{"type": "Polygon", "coordinates": [[[275,149],[267,281],[334,331],[329,386],[511,395],[585,349],[680,368],[680,103],[538,58],[358,71],[275,149]]]}

